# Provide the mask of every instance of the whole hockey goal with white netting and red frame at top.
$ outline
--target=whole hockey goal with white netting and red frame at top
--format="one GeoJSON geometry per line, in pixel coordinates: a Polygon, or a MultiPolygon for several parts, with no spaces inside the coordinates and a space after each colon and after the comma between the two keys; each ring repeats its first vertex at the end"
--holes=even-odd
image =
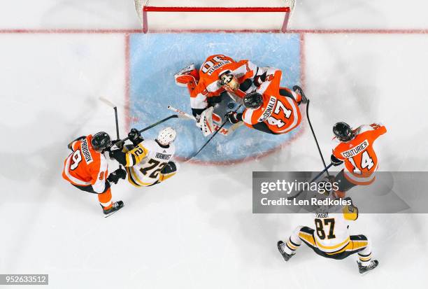
{"type": "Polygon", "coordinates": [[[143,32],[282,31],[295,0],[134,0],[143,32]]]}

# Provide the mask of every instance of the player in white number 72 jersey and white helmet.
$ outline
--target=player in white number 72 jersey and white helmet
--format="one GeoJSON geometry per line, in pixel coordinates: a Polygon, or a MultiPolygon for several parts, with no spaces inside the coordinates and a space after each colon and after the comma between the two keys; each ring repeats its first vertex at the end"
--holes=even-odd
{"type": "Polygon", "coordinates": [[[128,134],[132,145],[113,148],[110,157],[124,165],[128,181],[136,187],[148,187],[165,181],[176,174],[178,164],[172,158],[176,152],[173,141],[176,131],[166,127],[159,132],[157,139],[144,140],[138,129],[128,134]]]}

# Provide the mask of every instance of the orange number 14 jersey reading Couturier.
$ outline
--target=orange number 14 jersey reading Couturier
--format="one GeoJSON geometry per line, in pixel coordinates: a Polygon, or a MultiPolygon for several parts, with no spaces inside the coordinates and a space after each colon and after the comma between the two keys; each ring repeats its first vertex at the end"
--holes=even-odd
{"type": "Polygon", "coordinates": [[[373,143],[387,129],[373,123],[362,125],[355,130],[352,141],[340,142],[333,150],[333,155],[345,162],[345,178],[357,185],[369,185],[375,179],[373,174],[378,169],[378,157],[373,150],[373,143]]]}

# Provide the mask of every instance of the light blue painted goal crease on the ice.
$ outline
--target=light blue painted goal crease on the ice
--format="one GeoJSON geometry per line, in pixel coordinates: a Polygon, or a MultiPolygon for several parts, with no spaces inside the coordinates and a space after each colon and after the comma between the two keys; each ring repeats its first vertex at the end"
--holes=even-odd
{"type": "MultiPolygon", "coordinates": [[[[190,113],[187,88],[178,87],[173,75],[187,66],[204,62],[213,54],[228,55],[236,60],[250,59],[258,66],[274,66],[283,71],[282,86],[300,84],[299,34],[131,34],[130,55],[130,117],[131,127],[142,128],[161,120],[172,111],[171,104],[190,113]]],[[[232,102],[224,99],[222,110],[232,102]]],[[[191,120],[172,119],[144,133],[154,139],[163,127],[177,131],[176,155],[190,157],[207,138],[191,120]]],[[[236,129],[233,136],[218,135],[196,157],[202,162],[238,161],[257,157],[281,146],[299,132],[299,129],[271,135],[248,127],[236,129]]]]}

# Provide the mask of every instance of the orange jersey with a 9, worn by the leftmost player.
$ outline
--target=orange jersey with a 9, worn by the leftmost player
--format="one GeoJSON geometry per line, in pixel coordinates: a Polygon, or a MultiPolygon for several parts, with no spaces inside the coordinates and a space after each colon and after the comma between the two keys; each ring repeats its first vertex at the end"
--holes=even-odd
{"type": "Polygon", "coordinates": [[[71,144],[73,153],[64,161],[63,178],[73,185],[92,185],[95,192],[104,192],[108,163],[91,145],[92,135],[71,144]]]}

